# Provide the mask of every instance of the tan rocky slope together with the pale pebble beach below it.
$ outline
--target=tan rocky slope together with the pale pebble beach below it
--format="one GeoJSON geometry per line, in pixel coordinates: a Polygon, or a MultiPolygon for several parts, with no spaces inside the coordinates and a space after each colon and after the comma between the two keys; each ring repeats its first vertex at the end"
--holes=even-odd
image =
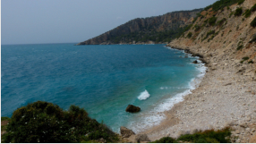
{"type": "Polygon", "coordinates": [[[256,142],[256,1],[218,2],[167,44],[201,55],[208,70],[166,121],[145,131],[150,140],[230,127],[232,142],[256,142]]]}

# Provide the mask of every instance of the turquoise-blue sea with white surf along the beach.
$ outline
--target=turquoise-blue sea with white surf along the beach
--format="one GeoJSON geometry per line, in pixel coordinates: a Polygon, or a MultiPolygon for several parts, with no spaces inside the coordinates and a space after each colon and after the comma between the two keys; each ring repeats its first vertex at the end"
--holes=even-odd
{"type": "Polygon", "coordinates": [[[116,132],[160,123],[205,72],[198,57],[165,45],[2,45],[1,57],[1,116],[43,100],[81,106],[116,132]],[[129,104],[141,112],[126,113],[129,104]]]}

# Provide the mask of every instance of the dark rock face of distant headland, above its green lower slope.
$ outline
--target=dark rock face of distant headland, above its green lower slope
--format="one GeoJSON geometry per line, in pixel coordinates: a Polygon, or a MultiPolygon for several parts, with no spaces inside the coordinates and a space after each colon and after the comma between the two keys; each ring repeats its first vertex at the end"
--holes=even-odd
{"type": "MultiPolygon", "coordinates": [[[[96,38],[90,38],[89,40],[79,43],[78,45],[119,44],[133,42],[134,38],[122,38],[122,36],[141,32],[143,34],[140,38],[143,38],[145,34],[150,34],[152,32],[158,33],[165,30],[176,30],[191,24],[193,19],[196,17],[196,13],[199,13],[200,11],[201,9],[180,11],[166,13],[164,15],[155,17],[134,19],[116,27],[114,30],[109,30],[96,38]],[[118,39],[116,39],[117,37],[118,39]]],[[[151,41],[155,41],[155,39],[152,39],[151,41]]],[[[135,42],[137,41],[135,40],[135,42]]]]}

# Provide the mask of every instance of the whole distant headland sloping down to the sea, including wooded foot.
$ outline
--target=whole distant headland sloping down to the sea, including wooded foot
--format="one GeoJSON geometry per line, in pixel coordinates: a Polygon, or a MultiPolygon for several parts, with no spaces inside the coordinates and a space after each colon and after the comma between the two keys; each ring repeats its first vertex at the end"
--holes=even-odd
{"type": "Polygon", "coordinates": [[[192,23],[201,9],[137,18],[77,45],[141,44],[169,42],[192,23]]]}

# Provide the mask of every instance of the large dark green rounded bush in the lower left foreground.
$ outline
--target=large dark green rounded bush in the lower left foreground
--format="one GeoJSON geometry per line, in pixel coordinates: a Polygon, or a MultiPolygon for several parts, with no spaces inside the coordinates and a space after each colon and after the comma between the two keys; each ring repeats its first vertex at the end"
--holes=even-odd
{"type": "Polygon", "coordinates": [[[6,131],[2,138],[6,143],[66,143],[100,138],[112,142],[117,139],[107,126],[90,119],[84,109],[70,106],[68,111],[64,111],[43,101],[15,110],[6,131]]]}

